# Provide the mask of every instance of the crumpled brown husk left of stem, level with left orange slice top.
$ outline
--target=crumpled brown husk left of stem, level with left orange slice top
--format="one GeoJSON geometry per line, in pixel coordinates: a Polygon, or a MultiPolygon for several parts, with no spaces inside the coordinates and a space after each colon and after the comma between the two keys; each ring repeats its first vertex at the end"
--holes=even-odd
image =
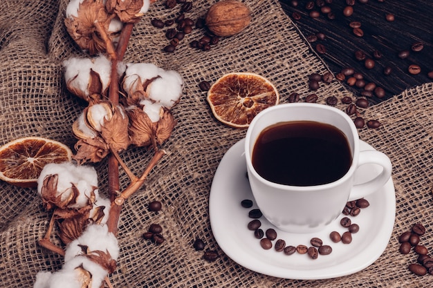
{"type": "Polygon", "coordinates": [[[77,153],[72,156],[78,164],[85,162],[100,162],[109,154],[109,145],[102,137],[87,138],[78,140],[75,144],[77,153]]]}

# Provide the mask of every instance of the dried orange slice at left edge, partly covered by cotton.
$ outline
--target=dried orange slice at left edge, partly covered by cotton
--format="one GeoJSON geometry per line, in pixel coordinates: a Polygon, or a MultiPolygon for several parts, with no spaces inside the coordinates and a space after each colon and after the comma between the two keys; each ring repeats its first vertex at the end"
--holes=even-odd
{"type": "Polygon", "coordinates": [[[0,147],[0,179],[21,187],[36,187],[48,163],[71,161],[65,144],[42,137],[23,137],[0,147]]]}

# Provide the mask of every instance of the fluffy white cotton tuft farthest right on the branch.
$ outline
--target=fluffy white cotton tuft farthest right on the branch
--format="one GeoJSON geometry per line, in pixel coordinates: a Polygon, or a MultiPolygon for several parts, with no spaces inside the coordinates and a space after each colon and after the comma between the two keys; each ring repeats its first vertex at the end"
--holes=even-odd
{"type": "Polygon", "coordinates": [[[155,79],[149,88],[149,98],[159,102],[167,108],[172,108],[182,94],[182,78],[174,70],[160,73],[160,78],[155,79]]]}

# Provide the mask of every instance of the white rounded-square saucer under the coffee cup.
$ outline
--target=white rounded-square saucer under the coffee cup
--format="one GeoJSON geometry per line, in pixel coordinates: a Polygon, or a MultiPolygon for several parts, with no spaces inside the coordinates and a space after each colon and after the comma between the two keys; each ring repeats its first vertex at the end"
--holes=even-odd
{"type": "MultiPolygon", "coordinates": [[[[247,224],[252,219],[248,217],[250,209],[241,207],[241,201],[250,199],[255,202],[250,184],[246,177],[246,164],[241,140],[225,153],[216,169],[210,189],[209,213],[210,224],[216,242],[225,254],[235,262],[252,271],[289,279],[325,279],[346,276],[368,267],[376,261],[387,247],[394,228],[396,214],[396,197],[394,183],[390,179],[380,191],[366,197],[370,206],[362,209],[356,217],[351,217],[352,223],[360,227],[358,233],[353,233],[350,244],[333,243],[329,239],[331,231],[342,234],[347,231],[340,225],[340,219],[335,220],[318,233],[287,233],[277,230],[277,239],[286,241],[286,245],[304,244],[311,246],[310,239],[321,238],[324,244],[329,244],[333,251],[326,256],[313,260],[306,254],[295,253],[286,256],[274,248],[264,250],[255,238],[254,232],[248,230],[247,224]]],[[[361,150],[373,150],[369,144],[360,141],[361,150]]],[[[358,169],[356,182],[365,181],[378,172],[376,165],[365,165],[358,169]]],[[[274,228],[264,217],[260,218],[261,229],[266,231],[274,228]]],[[[275,241],[273,241],[275,244],[275,241]]]]}

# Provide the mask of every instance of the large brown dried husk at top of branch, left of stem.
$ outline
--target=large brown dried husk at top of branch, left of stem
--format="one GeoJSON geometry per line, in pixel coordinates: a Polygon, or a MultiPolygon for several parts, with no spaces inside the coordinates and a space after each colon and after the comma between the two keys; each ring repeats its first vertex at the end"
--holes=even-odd
{"type": "Polygon", "coordinates": [[[90,55],[107,50],[106,42],[100,36],[95,22],[101,24],[110,39],[114,39],[117,33],[109,31],[109,25],[113,16],[105,10],[102,0],[84,0],[80,3],[77,17],[71,15],[64,20],[69,35],[83,50],[89,50],[90,55]]]}

